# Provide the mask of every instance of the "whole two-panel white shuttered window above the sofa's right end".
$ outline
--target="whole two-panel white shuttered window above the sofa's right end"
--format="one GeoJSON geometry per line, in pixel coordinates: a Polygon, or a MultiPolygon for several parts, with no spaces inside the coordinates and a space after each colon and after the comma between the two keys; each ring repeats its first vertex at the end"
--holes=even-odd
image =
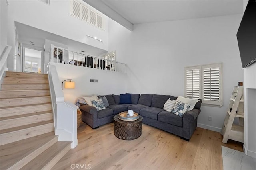
{"type": "Polygon", "coordinates": [[[222,63],[185,67],[185,96],[222,106],[222,63]]]}

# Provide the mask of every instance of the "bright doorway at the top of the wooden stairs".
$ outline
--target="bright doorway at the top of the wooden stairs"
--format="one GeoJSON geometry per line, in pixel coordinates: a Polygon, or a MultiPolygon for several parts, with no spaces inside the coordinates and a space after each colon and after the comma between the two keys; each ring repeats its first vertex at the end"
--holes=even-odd
{"type": "Polygon", "coordinates": [[[41,74],[41,54],[40,50],[24,47],[23,72],[41,74]]]}

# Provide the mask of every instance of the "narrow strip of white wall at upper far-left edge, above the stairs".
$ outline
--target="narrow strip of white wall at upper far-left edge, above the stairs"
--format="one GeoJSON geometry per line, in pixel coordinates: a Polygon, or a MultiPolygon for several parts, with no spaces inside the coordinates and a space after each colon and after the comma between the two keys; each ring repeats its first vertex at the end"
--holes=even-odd
{"type": "Polygon", "coordinates": [[[0,55],[4,51],[7,45],[7,16],[8,8],[4,0],[0,1],[0,55]]]}

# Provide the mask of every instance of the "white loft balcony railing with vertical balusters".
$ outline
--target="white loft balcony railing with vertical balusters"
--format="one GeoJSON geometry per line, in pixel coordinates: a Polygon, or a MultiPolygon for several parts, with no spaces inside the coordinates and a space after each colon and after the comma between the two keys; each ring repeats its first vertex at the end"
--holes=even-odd
{"type": "Polygon", "coordinates": [[[95,57],[85,53],[70,51],[62,47],[56,47],[53,44],[49,52],[50,61],[54,63],[126,73],[126,64],[115,60],[116,52],[108,53],[104,57],[95,57]]]}

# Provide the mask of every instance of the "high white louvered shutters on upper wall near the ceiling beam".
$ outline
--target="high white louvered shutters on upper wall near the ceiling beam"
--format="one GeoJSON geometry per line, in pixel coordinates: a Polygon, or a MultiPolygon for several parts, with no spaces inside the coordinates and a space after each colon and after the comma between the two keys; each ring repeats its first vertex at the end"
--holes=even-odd
{"type": "Polygon", "coordinates": [[[70,0],[70,14],[82,21],[103,29],[103,16],[91,10],[86,6],[86,3],[81,0],[70,0]]]}

